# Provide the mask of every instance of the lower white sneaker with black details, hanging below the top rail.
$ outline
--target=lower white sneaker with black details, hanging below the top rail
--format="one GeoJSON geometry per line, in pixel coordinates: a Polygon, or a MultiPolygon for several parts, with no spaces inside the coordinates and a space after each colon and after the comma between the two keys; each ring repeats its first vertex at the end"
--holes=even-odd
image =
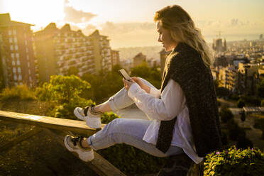
{"type": "Polygon", "coordinates": [[[70,136],[67,135],[64,138],[64,143],[66,148],[70,152],[76,152],[79,155],[79,158],[85,162],[91,161],[94,159],[94,150],[92,148],[82,148],[79,144],[82,140],[82,137],[78,136],[70,136]]]}

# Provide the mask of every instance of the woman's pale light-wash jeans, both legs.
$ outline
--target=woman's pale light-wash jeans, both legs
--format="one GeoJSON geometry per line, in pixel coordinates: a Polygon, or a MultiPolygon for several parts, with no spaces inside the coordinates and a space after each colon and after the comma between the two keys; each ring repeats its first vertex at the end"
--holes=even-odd
{"type": "MultiPolygon", "coordinates": [[[[153,87],[153,85],[145,79],[141,78],[141,80],[148,86],[153,87]]],[[[109,98],[109,105],[112,111],[119,111],[133,103],[134,101],[128,97],[128,92],[124,87],[109,98]]],[[[173,145],[170,146],[167,153],[163,153],[158,150],[158,148],[155,148],[155,145],[152,143],[143,141],[143,136],[150,123],[151,121],[144,119],[114,119],[104,126],[101,131],[90,136],[87,141],[94,150],[108,148],[116,143],[126,143],[157,157],[184,153],[182,148],[173,145]]]]}

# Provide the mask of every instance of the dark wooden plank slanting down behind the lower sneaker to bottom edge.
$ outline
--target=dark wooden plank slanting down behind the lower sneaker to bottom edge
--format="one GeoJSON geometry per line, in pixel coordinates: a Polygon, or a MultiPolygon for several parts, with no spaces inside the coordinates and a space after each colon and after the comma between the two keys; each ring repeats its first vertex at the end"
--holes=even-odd
{"type": "MultiPolygon", "coordinates": [[[[65,144],[63,142],[64,137],[67,135],[67,133],[62,132],[62,131],[56,131],[56,130],[50,130],[50,129],[45,129],[45,132],[49,133],[50,136],[53,136],[56,138],[56,140],[65,147],[65,144]]],[[[77,158],[78,155],[77,153],[72,153],[75,155],[77,158]]],[[[114,167],[111,163],[109,163],[108,160],[104,159],[94,151],[94,160],[91,162],[84,162],[89,168],[94,170],[94,172],[97,172],[98,175],[100,176],[126,176],[121,172],[119,169],[114,167]]]]}

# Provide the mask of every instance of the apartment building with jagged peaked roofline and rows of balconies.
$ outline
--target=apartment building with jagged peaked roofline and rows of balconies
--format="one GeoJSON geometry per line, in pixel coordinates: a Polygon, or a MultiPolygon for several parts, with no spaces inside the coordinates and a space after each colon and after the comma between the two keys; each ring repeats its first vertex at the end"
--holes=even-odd
{"type": "Polygon", "coordinates": [[[67,75],[70,68],[78,75],[95,73],[94,46],[82,31],[72,31],[69,24],[57,28],[50,23],[34,33],[35,55],[40,65],[40,82],[49,82],[51,75],[67,75]]]}

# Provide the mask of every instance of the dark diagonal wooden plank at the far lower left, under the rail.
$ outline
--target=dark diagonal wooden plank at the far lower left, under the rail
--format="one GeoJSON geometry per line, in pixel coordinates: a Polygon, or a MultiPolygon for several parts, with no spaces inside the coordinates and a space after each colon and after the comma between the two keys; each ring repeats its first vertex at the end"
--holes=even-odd
{"type": "Polygon", "coordinates": [[[24,133],[23,135],[13,139],[12,141],[4,143],[4,145],[0,146],[0,153],[4,152],[5,150],[7,150],[9,148],[12,148],[14,145],[21,143],[22,141],[25,141],[28,138],[31,138],[32,136],[35,136],[37,133],[40,133],[40,131],[42,131],[42,129],[33,128],[31,131],[24,133]]]}

